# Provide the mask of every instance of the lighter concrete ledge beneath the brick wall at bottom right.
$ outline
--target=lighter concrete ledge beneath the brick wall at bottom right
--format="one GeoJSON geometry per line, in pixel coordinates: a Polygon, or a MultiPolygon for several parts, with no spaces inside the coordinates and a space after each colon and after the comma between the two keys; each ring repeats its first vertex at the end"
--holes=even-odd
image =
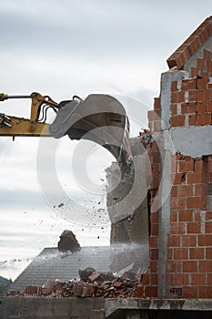
{"type": "Polygon", "coordinates": [[[106,317],[118,309],[212,311],[212,299],[106,299],[106,317]]]}

